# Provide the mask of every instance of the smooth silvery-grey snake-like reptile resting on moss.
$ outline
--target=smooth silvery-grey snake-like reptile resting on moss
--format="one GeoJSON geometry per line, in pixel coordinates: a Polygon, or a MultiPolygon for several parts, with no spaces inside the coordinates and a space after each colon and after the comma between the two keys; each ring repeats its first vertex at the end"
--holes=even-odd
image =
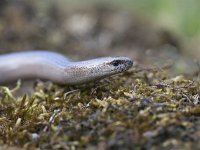
{"type": "Polygon", "coordinates": [[[95,81],[128,70],[133,61],[127,57],[101,57],[72,62],[49,51],[30,51],[0,55],[0,83],[18,79],[46,79],[76,85],[95,81]]]}

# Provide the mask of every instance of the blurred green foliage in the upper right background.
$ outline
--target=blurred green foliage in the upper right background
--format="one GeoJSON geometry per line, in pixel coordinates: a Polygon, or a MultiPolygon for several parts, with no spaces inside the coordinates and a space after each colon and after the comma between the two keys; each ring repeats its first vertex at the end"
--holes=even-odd
{"type": "MultiPolygon", "coordinates": [[[[70,0],[61,0],[70,2],[70,0]]],[[[88,5],[94,2],[108,1],[82,1],[75,0],[73,4],[88,5]]],[[[200,34],[200,1],[198,0],[110,0],[111,5],[128,8],[136,13],[140,13],[147,18],[155,19],[161,25],[171,28],[171,30],[187,36],[197,37],[200,34]]]]}

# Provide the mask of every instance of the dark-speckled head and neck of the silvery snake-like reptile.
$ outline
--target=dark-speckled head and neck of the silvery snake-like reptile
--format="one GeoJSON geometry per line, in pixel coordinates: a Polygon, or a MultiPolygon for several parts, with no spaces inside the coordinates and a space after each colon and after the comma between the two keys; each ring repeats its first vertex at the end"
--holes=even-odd
{"type": "Polygon", "coordinates": [[[75,62],[67,69],[71,84],[79,84],[105,78],[128,70],[133,61],[128,57],[102,57],[75,62]]]}

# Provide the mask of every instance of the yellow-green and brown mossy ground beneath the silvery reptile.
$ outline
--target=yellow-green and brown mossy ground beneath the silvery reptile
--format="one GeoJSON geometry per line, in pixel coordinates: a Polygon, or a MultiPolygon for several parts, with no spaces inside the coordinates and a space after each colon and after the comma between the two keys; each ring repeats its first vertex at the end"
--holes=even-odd
{"type": "Polygon", "coordinates": [[[199,81],[136,67],[82,86],[38,82],[31,96],[1,87],[0,143],[24,148],[191,148],[199,81]]]}

